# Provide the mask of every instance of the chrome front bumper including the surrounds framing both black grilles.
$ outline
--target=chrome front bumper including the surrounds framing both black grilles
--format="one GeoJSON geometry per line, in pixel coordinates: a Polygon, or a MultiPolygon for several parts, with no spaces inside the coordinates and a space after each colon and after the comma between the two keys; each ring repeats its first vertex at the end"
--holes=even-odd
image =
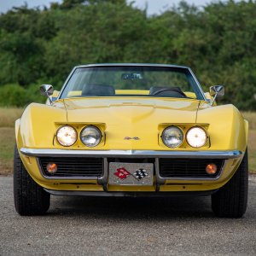
{"type": "MultiPolygon", "coordinates": [[[[20,153],[26,156],[39,157],[102,157],[104,160],[102,177],[46,177],[42,172],[41,166],[38,162],[38,168],[42,176],[46,179],[97,179],[98,183],[106,189],[108,184],[108,158],[151,158],[154,159],[154,170],[156,176],[157,186],[166,182],[166,177],[160,176],[159,159],[173,158],[173,159],[222,159],[230,160],[237,159],[242,156],[242,152],[238,150],[233,151],[150,151],[150,150],[76,150],[76,149],[46,149],[46,148],[20,148],[20,153]]],[[[224,161],[224,166],[225,166],[224,161]]],[[[217,180],[224,170],[222,167],[218,177],[174,177],[173,180],[217,180]]]]}

